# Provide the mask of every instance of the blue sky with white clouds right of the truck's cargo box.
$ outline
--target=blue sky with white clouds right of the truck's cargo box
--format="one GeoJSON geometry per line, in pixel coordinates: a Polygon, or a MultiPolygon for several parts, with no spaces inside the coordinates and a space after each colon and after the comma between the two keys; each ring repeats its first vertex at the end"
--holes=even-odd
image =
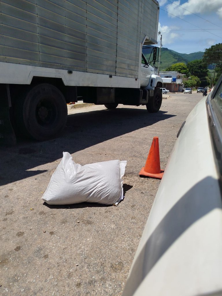
{"type": "MultiPolygon", "coordinates": [[[[158,31],[162,34],[163,47],[180,53],[191,53],[204,51],[212,45],[222,43],[222,0],[158,2],[158,31]]],[[[160,46],[160,36],[157,40],[160,46]]]]}

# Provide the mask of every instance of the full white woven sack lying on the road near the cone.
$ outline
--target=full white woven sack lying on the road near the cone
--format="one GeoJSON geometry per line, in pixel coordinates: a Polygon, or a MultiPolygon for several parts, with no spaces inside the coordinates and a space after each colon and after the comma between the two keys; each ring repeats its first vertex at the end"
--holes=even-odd
{"type": "Polygon", "coordinates": [[[123,198],[126,161],[109,160],[80,165],[68,152],[52,175],[42,199],[49,205],[98,202],[112,205],[123,198]]]}

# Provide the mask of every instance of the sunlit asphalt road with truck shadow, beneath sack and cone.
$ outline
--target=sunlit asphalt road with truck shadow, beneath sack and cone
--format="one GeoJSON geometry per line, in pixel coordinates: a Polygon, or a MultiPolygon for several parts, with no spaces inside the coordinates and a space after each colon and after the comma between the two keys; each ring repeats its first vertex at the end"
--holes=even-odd
{"type": "Polygon", "coordinates": [[[59,138],[0,148],[0,294],[121,295],[160,184],[139,171],[154,136],[165,169],[181,124],[201,98],[171,94],[154,114],[145,106],[69,106],[59,138]],[[124,201],[118,207],[43,204],[63,151],[81,165],[127,160],[124,201]]]}

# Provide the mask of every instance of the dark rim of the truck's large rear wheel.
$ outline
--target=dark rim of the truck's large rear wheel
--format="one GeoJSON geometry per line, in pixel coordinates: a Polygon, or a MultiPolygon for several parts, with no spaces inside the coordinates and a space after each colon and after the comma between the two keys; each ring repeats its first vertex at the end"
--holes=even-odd
{"type": "Polygon", "coordinates": [[[57,117],[57,109],[49,98],[41,99],[36,106],[36,120],[40,126],[49,126],[57,117]]]}

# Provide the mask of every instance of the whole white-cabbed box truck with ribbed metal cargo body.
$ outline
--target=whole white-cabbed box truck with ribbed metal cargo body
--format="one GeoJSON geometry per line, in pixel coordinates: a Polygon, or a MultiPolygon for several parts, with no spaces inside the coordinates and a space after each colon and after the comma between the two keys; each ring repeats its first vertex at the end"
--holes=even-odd
{"type": "Polygon", "coordinates": [[[146,105],[163,81],[156,0],[0,0],[0,144],[44,141],[66,125],[67,102],[146,105]]]}

